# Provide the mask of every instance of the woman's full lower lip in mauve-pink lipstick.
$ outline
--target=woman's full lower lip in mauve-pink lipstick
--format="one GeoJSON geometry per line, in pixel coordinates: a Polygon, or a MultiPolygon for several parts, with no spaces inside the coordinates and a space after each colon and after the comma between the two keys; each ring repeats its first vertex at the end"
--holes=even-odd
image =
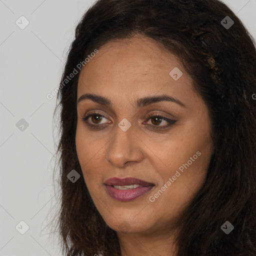
{"type": "Polygon", "coordinates": [[[132,189],[118,189],[114,188],[113,186],[105,185],[107,193],[118,201],[127,202],[130,200],[134,200],[137,197],[147,193],[149,190],[153,188],[153,185],[151,186],[139,186],[132,189]]]}

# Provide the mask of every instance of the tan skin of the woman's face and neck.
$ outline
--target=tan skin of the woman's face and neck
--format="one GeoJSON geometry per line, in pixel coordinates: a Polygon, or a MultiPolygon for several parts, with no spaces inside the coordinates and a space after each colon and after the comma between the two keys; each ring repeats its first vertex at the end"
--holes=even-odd
{"type": "Polygon", "coordinates": [[[94,93],[111,101],[111,106],[90,99],[77,103],[75,139],[85,183],[99,213],[116,230],[121,255],[176,255],[175,220],[203,185],[213,153],[208,109],[191,77],[176,56],[151,39],[135,36],[100,47],[82,68],[77,86],[77,99],[94,93]],[[169,75],[174,67],[183,73],[178,80],[169,75]],[[170,101],[135,105],[141,97],[161,94],[178,99],[185,107],[170,101]],[[97,120],[94,115],[87,121],[95,126],[105,123],[98,130],[82,121],[95,111],[105,117],[97,120]],[[156,130],[155,126],[168,122],[146,118],[149,114],[176,122],[156,130]],[[118,126],[123,118],[131,123],[126,131],[118,126]],[[200,156],[151,202],[149,196],[197,151],[200,156]],[[136,177],[155,186],[134,200],[121,202],[106,193],[103,183],[110,177],[136,177]],[[125,232],[120,229],[123,226],[125,232]]]}

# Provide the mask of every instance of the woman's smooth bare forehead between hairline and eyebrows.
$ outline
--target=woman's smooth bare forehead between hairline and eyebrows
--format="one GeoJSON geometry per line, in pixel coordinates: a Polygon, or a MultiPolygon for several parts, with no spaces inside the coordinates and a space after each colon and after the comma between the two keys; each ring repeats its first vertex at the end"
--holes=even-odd
{"type": "Polygon", "coordinates": [[[77,98],[95,93],[122,104],[127,97],[168,93],[191,99],[192,87],[178,57],[152,39],[133,37],[108,42],[98,49],[81,69],[77,98]],[[177,80],[170,75],[172,70],[180,75],[177,80]]]}

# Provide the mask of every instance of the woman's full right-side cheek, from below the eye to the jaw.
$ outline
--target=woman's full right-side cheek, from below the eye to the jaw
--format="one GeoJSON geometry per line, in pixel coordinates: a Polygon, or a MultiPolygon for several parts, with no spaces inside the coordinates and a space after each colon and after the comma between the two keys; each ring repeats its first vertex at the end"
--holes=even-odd
{"type": "Polygon", "coordinates": [[[164,182],[159,185],[166,184],[169,178],[173,180],[171,185],[165,185],[169,188],[166,189],[166,195],[173,198],[171,200],[177,204],[196,194],[206,178],[212,155],[212,143],[207,125],[203,128],[198,127],[200,126],[187,125],[181,129],[180,126],[180,131],[177,129],[171,139],[162,143],[162,147],[157,142],[152,144],[162,162],[162,168],[158,170],[164,177],[164,182]]]}

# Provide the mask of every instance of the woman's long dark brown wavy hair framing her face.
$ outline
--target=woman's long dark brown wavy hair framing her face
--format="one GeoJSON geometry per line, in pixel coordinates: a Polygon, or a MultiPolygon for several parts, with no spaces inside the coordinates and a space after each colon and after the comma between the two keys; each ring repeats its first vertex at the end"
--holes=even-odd
{"type": "MultiPolygon", "coordinates": [[[[229,21],[228,21],[229,22],[229,21]]],[[[55,217],[67,256],[120,256],[116,231],[106,225],[75,169],[77,64],[107,42],[135,35],[175,54],[209,110],[214,144],[205,183],[180,215],[178,256],[256,255],[256,50],[239,18],[219,0],[97,0],[82,16],[68,50],[54,115],[60,109],[58,162],[61,196],[55,217]],[[225,27],[226,16],[234,22],[225,27]],[[227,235],[220,226],[229,221],[227,235]]]]}

